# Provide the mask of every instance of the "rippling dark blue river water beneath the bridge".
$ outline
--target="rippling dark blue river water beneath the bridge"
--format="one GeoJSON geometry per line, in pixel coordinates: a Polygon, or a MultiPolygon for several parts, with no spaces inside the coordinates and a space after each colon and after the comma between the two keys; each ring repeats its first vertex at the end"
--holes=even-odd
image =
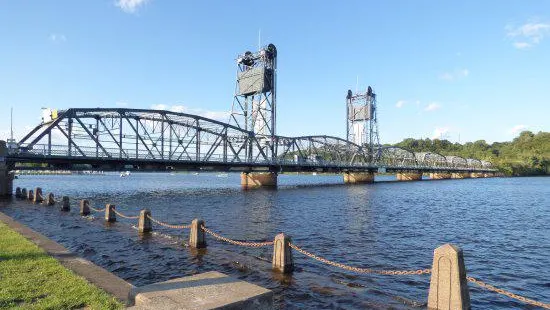
{"type": "MultiPolygon", "coordinates": [[[[78,200],[113,203],[164,222],[202,218],[238,240],[272,240],[284,232],[305,250],[374,269],[430,268],[447,242],[464,251],[466,269],[499,288],[550,301],[550,178],[490,178],[342,185],[341,176],[279,176],[278,190],[240,189],[239,174],[134,173],[21,176],[16,186],[71,197],[72,209],[0,201],[0,211],[140,286],[204,271],[221,271],[272,289],[280,309],[425,308],[429,275],[362,275],[294,251],[292,276],[271,272],[272,247],[244,248],[207,236],[208,249],[185,246],[187,231],[154,226],[140,237],[136,220],[108,225],[80,217],[78,200]]],[[[473,309],[527,305],[470,284],[473,309]]]]}

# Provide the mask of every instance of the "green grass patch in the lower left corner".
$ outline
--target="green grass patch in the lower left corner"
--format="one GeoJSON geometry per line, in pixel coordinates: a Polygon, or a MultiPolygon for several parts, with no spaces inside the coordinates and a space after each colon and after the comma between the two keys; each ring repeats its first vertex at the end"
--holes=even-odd
{"type": "Polygon", "coordinates": [[[122,307],[113,296],[0,222],[0,309],[122,307]]]}

